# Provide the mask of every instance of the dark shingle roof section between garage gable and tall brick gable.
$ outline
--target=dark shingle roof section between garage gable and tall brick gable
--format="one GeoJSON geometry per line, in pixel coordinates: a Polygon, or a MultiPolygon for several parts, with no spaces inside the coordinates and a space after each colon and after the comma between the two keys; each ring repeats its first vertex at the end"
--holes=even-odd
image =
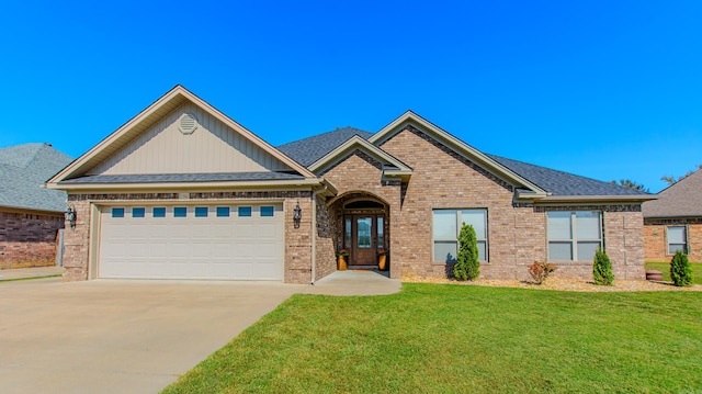
{"type": "Polygon", "coordinates": [[[358,135],[363,139],[369,139],[373,133],[364,132],[354,127],[342,127],[332,132],[281,145],[278,149],[301,165],[309,167],[312,164],[325,157],[325,155],[336,149],[339,145],[346,143],[354,135],[358,135]]]}

